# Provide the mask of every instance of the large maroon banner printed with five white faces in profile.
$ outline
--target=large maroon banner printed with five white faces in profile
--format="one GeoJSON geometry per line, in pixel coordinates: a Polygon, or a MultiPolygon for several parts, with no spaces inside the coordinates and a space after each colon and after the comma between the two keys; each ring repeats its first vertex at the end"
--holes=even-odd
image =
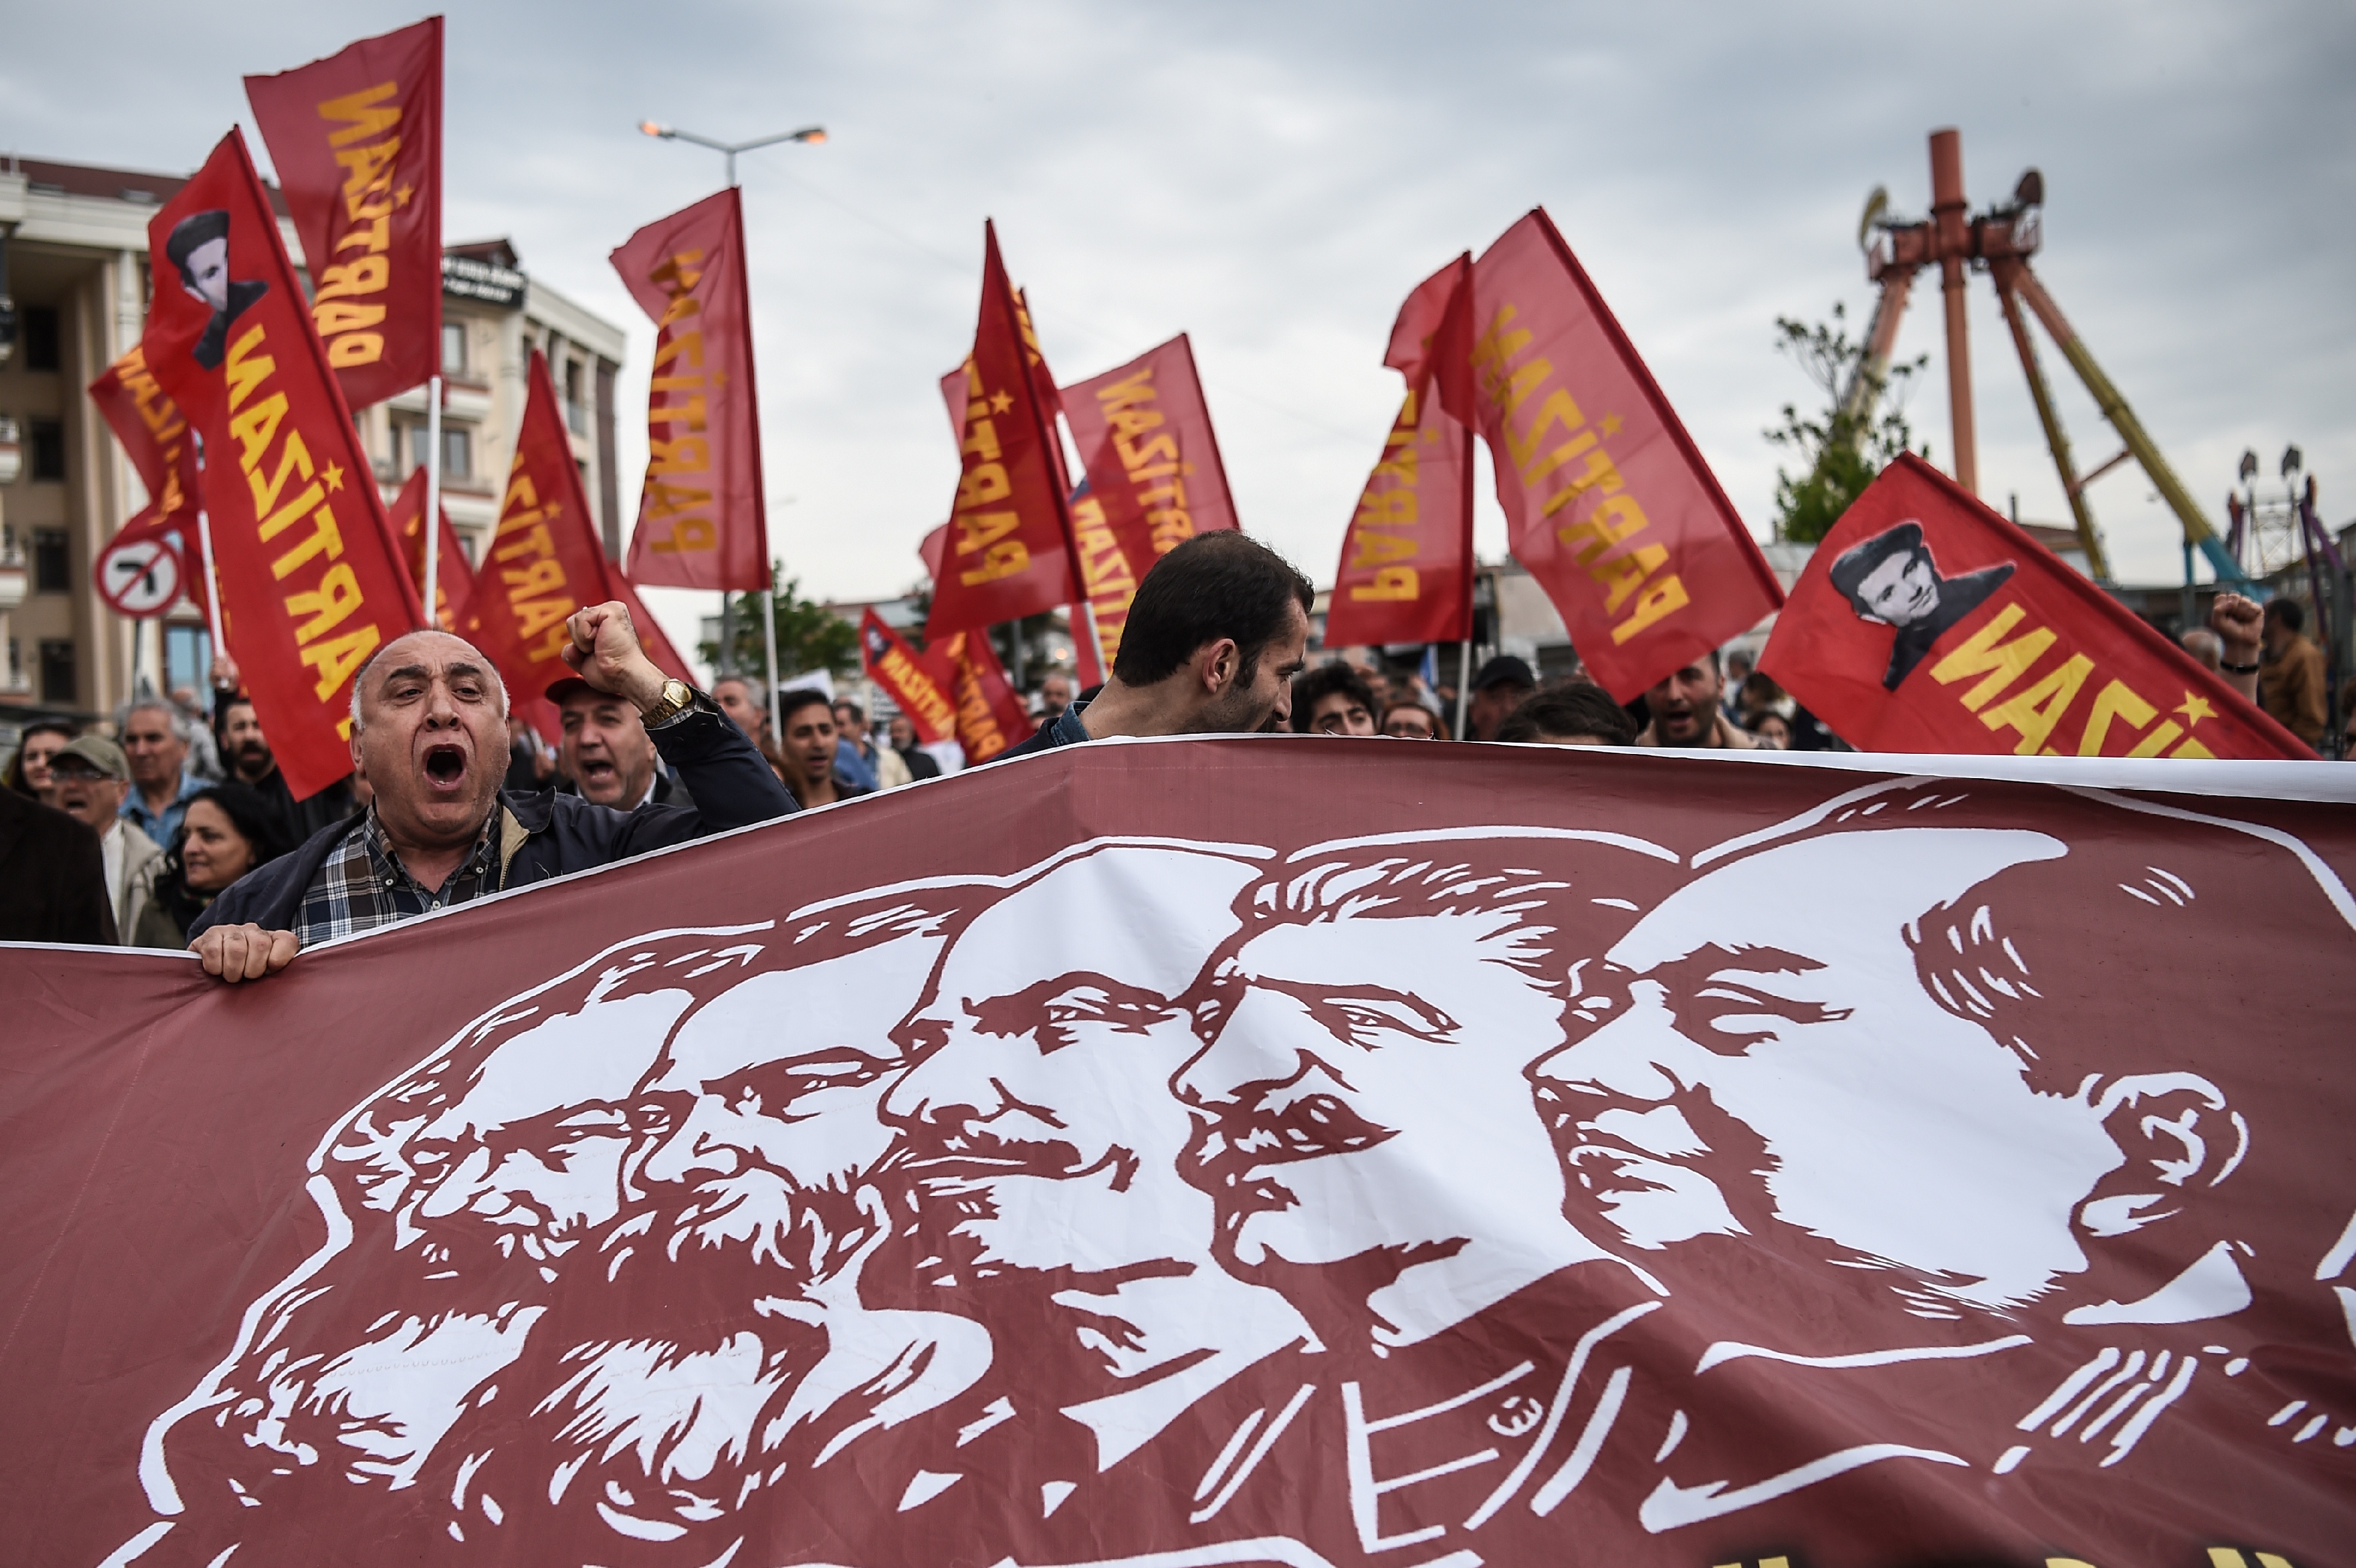
{"type": "Polygon", "coordinates": [[[1887,765],[1093,744],[7,954],[9,1554],[2344,1563],[2351,786],[1887,765]]]}

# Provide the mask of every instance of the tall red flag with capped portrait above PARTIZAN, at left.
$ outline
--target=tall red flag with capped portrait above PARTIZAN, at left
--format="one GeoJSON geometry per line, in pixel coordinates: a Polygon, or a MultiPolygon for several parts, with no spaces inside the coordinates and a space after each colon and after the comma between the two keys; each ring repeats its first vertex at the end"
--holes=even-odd
{"type": "Polygon", "coordinates": [[[146,365],[205,438],[229,652],[297,798],[351,772],[351,678],[419,624],[294,261],[229,132],[148,224],[146,365]]]}

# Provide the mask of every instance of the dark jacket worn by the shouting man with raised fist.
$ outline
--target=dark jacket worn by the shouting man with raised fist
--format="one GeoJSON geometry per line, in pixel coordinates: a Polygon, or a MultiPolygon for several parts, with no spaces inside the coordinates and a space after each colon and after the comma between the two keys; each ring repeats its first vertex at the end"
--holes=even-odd
{"type": "MultiPolygon", "coordinates": [[[[686,713],[650,732],[655,751],[695,789],[697,808],[641,805],[617,812],[554,789],[537,796],[502,793],[499,888],[528,888],[554,876],[610,866],[631,855],[723,833],[799,810],[744,732],[716,709],[686,713]]],[[[280,855],[238,878],[188,928],[188,939],[214,925],[292,930],[302,895],[327,864],[346,826],[325,826],[292,855],[280,855]]]]}

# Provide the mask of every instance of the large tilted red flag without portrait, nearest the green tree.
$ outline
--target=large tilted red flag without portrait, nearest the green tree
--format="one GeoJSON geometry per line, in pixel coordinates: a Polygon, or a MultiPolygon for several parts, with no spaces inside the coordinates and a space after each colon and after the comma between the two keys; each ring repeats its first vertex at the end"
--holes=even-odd
{"type": "Polygon", "coordinates": [[[1513,553],[1604,690],[1628,702],[1783,603],[1543,207],[1472,266],[1470,323],[1440,344],[1442,400],[1489,440],[1513,553]]]}

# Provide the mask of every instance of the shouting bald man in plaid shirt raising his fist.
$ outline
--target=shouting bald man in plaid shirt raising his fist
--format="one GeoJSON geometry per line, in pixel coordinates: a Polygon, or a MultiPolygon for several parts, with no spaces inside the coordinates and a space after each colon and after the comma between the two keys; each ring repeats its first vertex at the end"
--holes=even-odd
{"type": "Polygon", "coordinates": [[[332,937],[794,810],[719,704],[648,662],[629,610],[575,610],[565,631],[565,664],[638,711],[655,751],[695,791],[693,810],[502,796],[507,687],[464,638],[412,631],[351,683],[351,760],[372,791],[368,815],[313,833],[217,897],[188,930],[205,972],[262,979],[332,937]]]}

